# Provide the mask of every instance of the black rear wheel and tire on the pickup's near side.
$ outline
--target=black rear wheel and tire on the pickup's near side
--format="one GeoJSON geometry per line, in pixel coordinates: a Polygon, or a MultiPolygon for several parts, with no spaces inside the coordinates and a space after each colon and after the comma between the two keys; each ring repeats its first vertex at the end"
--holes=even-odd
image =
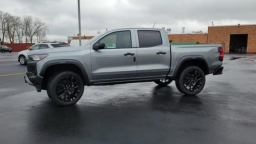
{"type": "Polygon", "coordinates": [[[203,90],[205,74],[197,66],[190,66],[179,73],[175,84],[180,92],[193,96],[203,90]]]}

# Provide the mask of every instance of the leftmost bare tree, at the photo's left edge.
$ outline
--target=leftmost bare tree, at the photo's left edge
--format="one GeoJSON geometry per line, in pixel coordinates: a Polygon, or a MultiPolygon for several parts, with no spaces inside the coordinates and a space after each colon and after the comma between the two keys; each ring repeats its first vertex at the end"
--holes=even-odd
{"type": "Polygon", "coordinates": [[[6,22],[6,17],[8,13],[0,11],[0,32],[2,35],[2,38],[0,38],[1,44],[4,44],[4,38],[6,36],[7,32],[7,22],[6,22]]]}

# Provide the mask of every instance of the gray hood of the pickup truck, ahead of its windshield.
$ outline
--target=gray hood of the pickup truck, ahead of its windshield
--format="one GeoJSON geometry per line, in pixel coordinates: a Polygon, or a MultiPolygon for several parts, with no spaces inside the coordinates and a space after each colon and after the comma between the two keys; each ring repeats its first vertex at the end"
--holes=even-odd
{"type": "Polygon", "coordinates": [[[90,49],[90,45],[86,46],[67,46],[67,47],[58,47],[58,48],[47,48],[42,50],[37,50],[35,52],[32,52],[28,55],[34,55],[34,54],[54,54],[54,53],[67,53],[67,52],[78,52],[81,50],[90,49]]]}

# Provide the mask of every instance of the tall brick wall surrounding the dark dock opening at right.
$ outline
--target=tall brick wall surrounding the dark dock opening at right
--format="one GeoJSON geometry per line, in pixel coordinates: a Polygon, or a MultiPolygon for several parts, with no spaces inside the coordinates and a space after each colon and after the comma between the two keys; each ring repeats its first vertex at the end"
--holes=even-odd
{"type": "Polygon", "coordinates": [[[248,34],[247,52],[256,52],[256,25],[251,26],[209,26],[208,44],[226,43],[226,52],[229,52],[230,34],[248,34]]]}

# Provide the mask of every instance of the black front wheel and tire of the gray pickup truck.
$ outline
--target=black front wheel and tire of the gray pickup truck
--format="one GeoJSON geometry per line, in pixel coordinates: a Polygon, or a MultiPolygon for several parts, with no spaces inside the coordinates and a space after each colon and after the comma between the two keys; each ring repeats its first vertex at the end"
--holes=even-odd
{"type": "Polygon", "coordinates": [[[76,73],[61,71],[48,81],[47,94],[60,106],[69,106],[80,100],[84,93],[84,81],[76,73]]]}

